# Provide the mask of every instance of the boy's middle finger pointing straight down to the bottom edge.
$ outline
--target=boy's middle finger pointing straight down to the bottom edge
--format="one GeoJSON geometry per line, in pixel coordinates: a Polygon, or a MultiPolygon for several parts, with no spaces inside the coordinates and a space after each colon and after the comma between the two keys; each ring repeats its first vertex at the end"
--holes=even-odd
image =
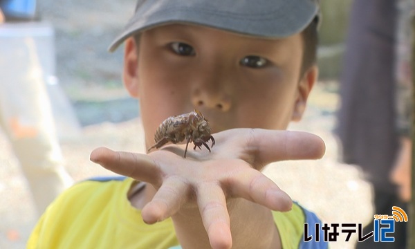
{"type": "Polygon", "coordinates": [[[199,211],[212,248],[231,248],[230,218],[225,195],[219,185],[203,185],[197,193],[199,211]]]}

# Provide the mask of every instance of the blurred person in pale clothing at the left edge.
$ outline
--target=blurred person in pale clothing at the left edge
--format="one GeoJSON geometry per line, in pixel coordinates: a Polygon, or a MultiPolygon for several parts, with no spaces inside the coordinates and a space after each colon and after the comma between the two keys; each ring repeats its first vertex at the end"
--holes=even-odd
{"type": "Polygon", "coordinates": [[[46,73],[36,39],[35,0],[0,0],[0,127],[12,145],[37,212],[73,180],[62,165],[46,73]]]}

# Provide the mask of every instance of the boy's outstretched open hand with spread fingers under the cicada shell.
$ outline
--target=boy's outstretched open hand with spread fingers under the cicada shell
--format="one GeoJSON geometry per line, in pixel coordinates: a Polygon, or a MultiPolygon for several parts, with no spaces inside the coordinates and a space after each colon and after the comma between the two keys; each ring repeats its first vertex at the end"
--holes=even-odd
{"type": "MultiPolygon", "coordinates": [[[[157,192],[142,209],[146,223],[199,208],[213,248],[230,248],[227,207],[238,198],[271,210],[291,210],[291,198],[260,170],[279,160],[317,159],[324,142],[311,133],[264,129],[230,129],[213,135],[212,152],[169,145],[148,155],[95,149],[91,160],[103,167],[151,183],[157,192]]],[[[197,212],[197,215],[199,215],[197,212]]]]}

